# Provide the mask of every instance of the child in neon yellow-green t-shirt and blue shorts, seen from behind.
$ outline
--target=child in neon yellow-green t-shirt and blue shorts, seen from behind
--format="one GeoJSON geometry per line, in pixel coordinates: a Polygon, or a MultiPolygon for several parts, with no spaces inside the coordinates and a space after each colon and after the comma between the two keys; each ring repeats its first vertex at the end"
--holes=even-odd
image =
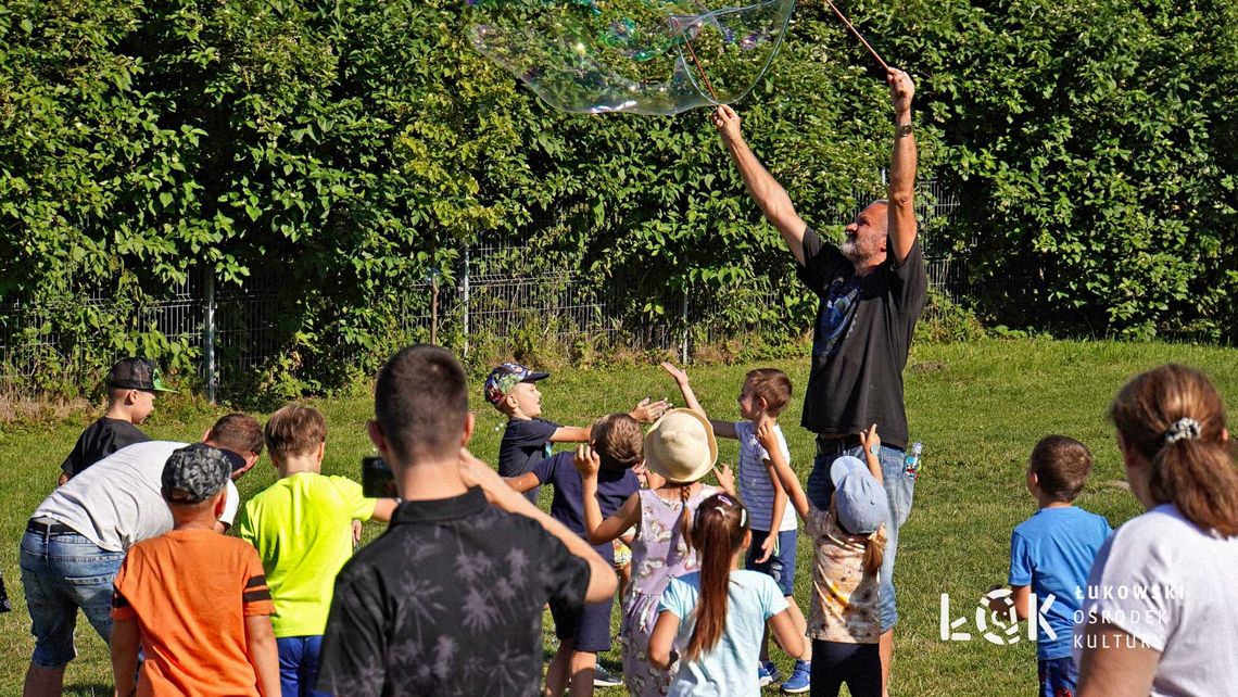
{"type": "Polygon", "coordinates": [[[285,696],[316,695],[318,655],[335,574],[353,553],[353,520],[391,520],[395,499],[366,499],[347,477],[322,472],[327,422],[286,406],[262,431],[280,479],[245,503],[236,526],[258,550],[275,600],[271,624],[285,696]]]}

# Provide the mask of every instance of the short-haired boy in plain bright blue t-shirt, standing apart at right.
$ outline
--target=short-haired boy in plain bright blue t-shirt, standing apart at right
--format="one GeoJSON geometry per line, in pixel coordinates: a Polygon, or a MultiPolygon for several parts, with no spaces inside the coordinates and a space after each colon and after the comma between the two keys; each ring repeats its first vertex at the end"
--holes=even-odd
{"type": "Polygon", "coordinates": [[[998,612],[1008,612],[1013,603],[1019,619],[1044,617],[1044,623],[1040,617],[1030,620],[1037,623],[1042,697],[1076,692],[1073,617],[1092,562],[1112,532],[1104,517],[1071,505],[1091,470],[1092,453],[1075,438],[1045,436],[1032,448],[1028,490],[1040,510],[1010,535],[1010,597],[992,603],[998,612]]]}

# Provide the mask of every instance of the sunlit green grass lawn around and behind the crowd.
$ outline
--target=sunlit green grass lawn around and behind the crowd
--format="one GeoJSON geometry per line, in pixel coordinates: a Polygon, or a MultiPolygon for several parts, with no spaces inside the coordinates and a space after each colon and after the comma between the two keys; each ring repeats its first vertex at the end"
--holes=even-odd
{"type": "MultiPolygon", "coordinates": [[[[1086,442],[1096,469],[1077,501],[1117,527],[1139,513],[1123,488],[1122,464],[1104,418],[1109,400],[1136,371],[1165,361],[1203,369],[1222,394],[1238,394],[1238,352],[1170,344],[1112,342],[982,340],[968,344],[917,345],[906,371],[907,413],[914,441],[924,442],[924,469],[915,509],[901,534],[895,583],[900,624],[895,631],[894,695],[1031,695],[1036,690],[1035,646],[1024,639],[994,645],[976,630],[976,603],[992,586],[1005,582],[1011,529],[1035,511],[1024,490],[1028,453],[1046,433],[1065,433],[1086,442]],[[951,619],[967,617],[973,639],[942,641],[941,597],[950,594],[951,619]]],[[[796,399],[784,417],[792,463],[806,477],[812,462],[811,435],[799,428],[800,401],[807,378],[807,357],[773,361],[786,370],[796,399]]],[[[690,371],[697,395],[711,415],[734,418],[735,396],[744,373],[756,365],[709,365],[690,371]]],[[[673,383],[656,366],[620,371],[563,371],[540,385],[545,416],[586,425],[605,411],[630,409],[640,397],[672,397],[673,383]]],[[[479,397],[474,452],[494,462],[503,423],[479,397]]],[[[364,422],[373,413],[365,397],[312,402],[327,413],[329,435],[324,472],[359,478],[360,458],[371,452],[364,422]]],[[[220,412],[222,413],[222,412],[220,412]]],[[[165,410],[144,430],[155,438],[197,439],[217,413],[165,410]]],[[[14,612],[0,615],[0,695],[20,693],[32,639],[17,569],[25,522],[52,489],[58,465],[72,448],[82,420],[45,428],[0,432],[0,571],[14,612]]],[[[722,459],[735,462],[734,441],[721,443],[722,459]]],[[[275,479],[267,459],[240,482],[244,496],[275,479]]],[[[543,505],[548,491],[543,491],[543,505]]],[[[381,531],[368,524],[366,535],[381,531]]],[[[796,597],[807,607],[811,545],[801,542],[796,597]]],[[[547,657],[555,649],[550,633],[547,657]]],[[[110,665],[103,641],[79,615],[79,657],[69,665],[69,695],[110,695],[110,665]]],[[[790,661],[776,650],[786,672],[790,661]]],[[[618,652],[603,656],[618,670],[618,652]]],[[[599,691],[620,695],[620,690],[599,691]]]]}

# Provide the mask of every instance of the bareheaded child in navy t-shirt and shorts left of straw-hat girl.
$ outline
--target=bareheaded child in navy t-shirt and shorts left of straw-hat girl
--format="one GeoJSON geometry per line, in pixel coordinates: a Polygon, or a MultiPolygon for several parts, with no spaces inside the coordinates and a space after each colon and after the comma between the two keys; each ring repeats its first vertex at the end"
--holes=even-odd
{"type": "MultiPolygon", "coordinates": [[[[644,433],[640,423],[628,413],[603,416],[588,430],[592,451],[599,461],[598,505],[603,516],[614,515],[619,506],[636,493],[640,482],[633,467],[644,461],[644,433]]],[[[527,491],[541,484],[555,489],[550,515],[577,535],[584,536],[584,511],[582,508],[584,480],[573,461],[577,453],[562,452],[542,459],[531,472],[505,479],[517,491],[527,491]]],[[[602,558],[613,561],[610,542],[594,545],[602,558]]],[[[614,598],[602,603],[589,603],[581,609],[571,609],[556,600],[550,602],[555,618],[555,636],[558,650],[546,670],[546,692],[562,695],[571,690],[571,697],[593,695],[597,678],[598,654],[610,650],[610,608],[614,598]]]]}

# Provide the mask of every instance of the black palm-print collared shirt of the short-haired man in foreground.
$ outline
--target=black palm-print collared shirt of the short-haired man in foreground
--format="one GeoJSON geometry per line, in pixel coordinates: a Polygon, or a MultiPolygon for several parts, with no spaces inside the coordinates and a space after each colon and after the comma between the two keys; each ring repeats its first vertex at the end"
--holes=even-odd
{"type": "Polygon", "coordinates": [[[335,578],[318,690],[536,697],[542,607],[579,610],[589,565],[482,489],[405,501],[335,578]]]}

